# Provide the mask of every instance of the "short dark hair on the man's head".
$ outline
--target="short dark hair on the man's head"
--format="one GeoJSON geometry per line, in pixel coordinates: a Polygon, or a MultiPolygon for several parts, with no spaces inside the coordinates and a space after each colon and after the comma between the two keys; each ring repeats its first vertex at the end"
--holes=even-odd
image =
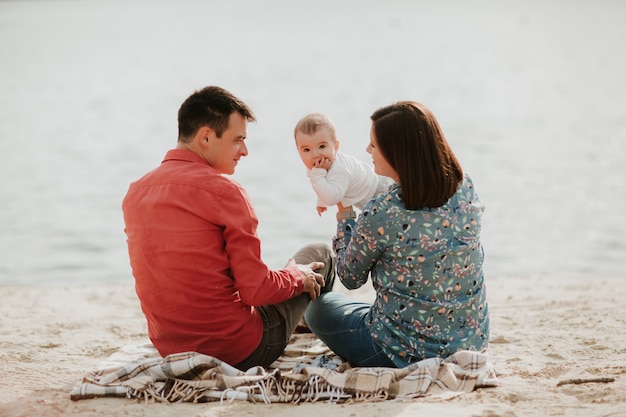
{"type": "Polygon", "coordinates": [[[218,138],[221,137],[234,112],[249,122],[256,121],[252,110],[229,91],[215,86],[196,91],[178,109],[178,141],[189,142],[202,126],[209,126],[218,138]]]}

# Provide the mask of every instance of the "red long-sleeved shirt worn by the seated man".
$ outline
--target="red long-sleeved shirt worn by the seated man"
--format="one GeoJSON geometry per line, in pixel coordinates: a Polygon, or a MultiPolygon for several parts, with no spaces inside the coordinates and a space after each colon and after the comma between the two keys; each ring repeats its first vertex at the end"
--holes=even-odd
{"type": "Polygon", "coordinates": [[[303,291],[296,267],[272,271],[261,260],[245,190],[191,151],[169,151],[122,208],[135,288],[163,356],[195,351],[235,365],[261,341],[253,306],[303,291]]]}

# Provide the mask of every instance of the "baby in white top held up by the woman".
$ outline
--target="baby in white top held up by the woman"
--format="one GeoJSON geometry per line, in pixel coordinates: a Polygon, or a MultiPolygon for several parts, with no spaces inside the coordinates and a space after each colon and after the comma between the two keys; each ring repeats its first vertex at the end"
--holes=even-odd
{"type": "Polygon", "coordinates": [[[386,191],[392,180],[354,156],[339,152],[335,126],[320,113],[304,116],[294,129],[300,159],[317,194],[317,214],[341,203],[359,210],[379,193],[386,191]]]}

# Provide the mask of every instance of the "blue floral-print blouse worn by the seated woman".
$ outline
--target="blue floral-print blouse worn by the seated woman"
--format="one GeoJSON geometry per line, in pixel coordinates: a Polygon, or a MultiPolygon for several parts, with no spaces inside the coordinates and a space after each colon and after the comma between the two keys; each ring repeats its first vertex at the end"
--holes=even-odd
{"type": "Polygon", "coordinates": [[[348,289],[369,277],[376,300],[366,323],[398,367],[458,350],[483,350],[489,313],[480,243],[483,205],[466,176],[441,207],[407,210],[400,186],[341,220],[333,249],[348,289]]]}

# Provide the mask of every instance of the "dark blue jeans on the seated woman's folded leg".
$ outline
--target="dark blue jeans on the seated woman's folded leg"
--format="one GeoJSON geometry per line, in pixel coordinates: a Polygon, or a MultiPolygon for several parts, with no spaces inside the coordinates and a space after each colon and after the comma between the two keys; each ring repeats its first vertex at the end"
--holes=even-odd
{"type": "Polygon", "coordinates": [[[329,292],[309,304],[305,319],[326,346],[354,366],[396,368],[365,326],[370,307],[344,294],[329,292]]]}

